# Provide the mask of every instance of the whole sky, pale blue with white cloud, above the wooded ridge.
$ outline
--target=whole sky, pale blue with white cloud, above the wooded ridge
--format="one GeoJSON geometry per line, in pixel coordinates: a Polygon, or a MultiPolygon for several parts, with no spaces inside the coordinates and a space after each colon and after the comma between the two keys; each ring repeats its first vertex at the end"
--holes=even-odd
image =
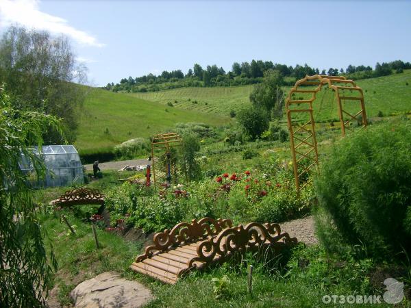
{"type": "Polygon", "coordinates": [[[195,63],[411,62],[411,1],[0,0],[0,32],[16,23],[69,36],[92,86],[195,63]]]}

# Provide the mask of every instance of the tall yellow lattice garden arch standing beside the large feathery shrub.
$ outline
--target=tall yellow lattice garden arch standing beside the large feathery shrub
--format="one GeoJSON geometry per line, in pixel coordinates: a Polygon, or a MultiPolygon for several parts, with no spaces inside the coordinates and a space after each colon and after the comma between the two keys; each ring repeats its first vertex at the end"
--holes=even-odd
{"type": "Polygon", "coordinates": [[[326,75],[306,76],[297,81],[286,98],[292,165],[297,191],[306,185],[305,183],[300,186],[301,179],[319,162],[312,103],[316,99],[317,92],[320,92],[323,87],[328,87],[335,92],[343,136],[352,129],[350,125],[353,121],[356,121],[361,128],[367,125],[364,94],[362,88],[354,81],[342,76],[326,75]],[[359,110],[354,106],[355,103],[357,106],[360,105],[359,110]]]}

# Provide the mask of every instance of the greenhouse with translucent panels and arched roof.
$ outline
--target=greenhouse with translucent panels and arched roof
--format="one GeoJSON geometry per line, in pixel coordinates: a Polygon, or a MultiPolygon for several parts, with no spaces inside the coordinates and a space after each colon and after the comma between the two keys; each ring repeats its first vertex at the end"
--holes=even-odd
{"type": "MultiPolygon", "coordinates": [[[[46,177],[42,181],[36,181],[32,177],[32,185],[38,187],[67,186],[71,184],[83,184],[84,173],[79,153],[72,145],[42,146],[42,153],[34,148],[34,153],[40,155],[47,168],[46,177]]],[[[23,156],[20,166],[27,173],[32,172],[32,164],[23,156]]]]}

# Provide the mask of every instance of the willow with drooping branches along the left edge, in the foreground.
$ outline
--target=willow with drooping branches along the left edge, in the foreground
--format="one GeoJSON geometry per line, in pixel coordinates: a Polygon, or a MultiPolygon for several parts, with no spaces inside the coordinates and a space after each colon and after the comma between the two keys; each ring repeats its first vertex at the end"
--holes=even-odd
{"type": "Polygon", "coordinates": [[[0,307],[41,307],[57,264],[45,250],[45,231],[36,219],[28,175],[19,164],[25,155],[33,172],[45,175],[32,146],[41,146],[45,129],[59,131],[59,120],[11,106],[0,88],[0,307]]]}

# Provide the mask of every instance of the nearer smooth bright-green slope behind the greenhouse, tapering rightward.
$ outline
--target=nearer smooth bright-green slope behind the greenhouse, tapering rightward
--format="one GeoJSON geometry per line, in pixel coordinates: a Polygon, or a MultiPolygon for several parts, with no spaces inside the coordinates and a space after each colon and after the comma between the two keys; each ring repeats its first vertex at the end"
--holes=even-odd
{"type": "Polygon", "coordinates": [[[227,118],[197,111],[181,110],[129,97],[125,94],[90,88],[79,121],[79,151],[102,151],[136,137],[146,137],[179,122],[221,125],[227,118]]]}

